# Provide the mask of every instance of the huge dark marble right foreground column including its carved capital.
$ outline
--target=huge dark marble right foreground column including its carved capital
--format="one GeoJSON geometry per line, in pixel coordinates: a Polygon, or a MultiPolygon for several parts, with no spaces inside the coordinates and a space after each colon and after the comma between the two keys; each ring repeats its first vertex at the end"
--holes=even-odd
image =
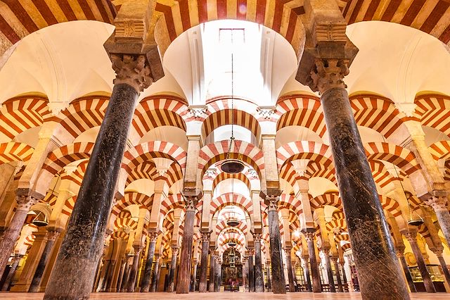
{"type": "Polygon", "coordinates": [[[348,60],[316,58],[310,86],[321,106],[363,299],[409,299],[383,207],[359,136],[344,76],[348,60]]]}

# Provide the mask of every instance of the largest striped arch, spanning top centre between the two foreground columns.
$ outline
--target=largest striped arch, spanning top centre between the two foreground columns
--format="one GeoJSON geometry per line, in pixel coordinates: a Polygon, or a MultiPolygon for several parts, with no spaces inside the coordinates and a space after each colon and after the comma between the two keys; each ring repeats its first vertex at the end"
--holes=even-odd
{"type": "Polygon", "coordinates": [[[304,14],[302,1],[269,0],[193,0],[157,2],[156,11],[163,18],[163,32],[173,41],[189,28],[212,20],[237,19],[262,24],[281,34],[300,48],[304,29],[300,15],[304,14]]]}

